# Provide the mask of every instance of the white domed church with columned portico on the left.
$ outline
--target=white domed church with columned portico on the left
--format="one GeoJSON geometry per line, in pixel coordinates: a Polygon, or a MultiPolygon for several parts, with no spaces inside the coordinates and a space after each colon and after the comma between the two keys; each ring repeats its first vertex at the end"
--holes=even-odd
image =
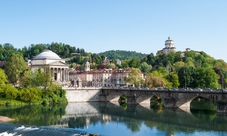
{"type": "Polygon", "coordinates": [[[66,84],[69,81],[69,66],[65,63],[65,59],[61,59],[51,50],[44,50],[42,53],[34,57],[31,61],[31,71],[49,66],[53,73],[53,79],[59,84],[66,84]]]}

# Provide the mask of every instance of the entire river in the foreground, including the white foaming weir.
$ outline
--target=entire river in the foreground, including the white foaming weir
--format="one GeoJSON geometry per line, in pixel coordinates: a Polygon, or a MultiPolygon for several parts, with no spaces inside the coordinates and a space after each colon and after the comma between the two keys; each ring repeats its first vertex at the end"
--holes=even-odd
{"type": "Polygon", "coordinates": [[[0,107],[16,119],[0,124],[0,136],[226,136],[227,116],[214,111],[121,107],[113,103],[0,107]]]}

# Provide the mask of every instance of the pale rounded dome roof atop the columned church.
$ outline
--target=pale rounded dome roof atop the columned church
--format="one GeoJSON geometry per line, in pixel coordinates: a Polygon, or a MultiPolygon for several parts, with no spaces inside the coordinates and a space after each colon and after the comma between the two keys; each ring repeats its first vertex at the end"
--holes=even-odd
{"type": "Polygon", "coordinates": [[[61,59],[61,58],[51,50],[44,50],[39,55],[37,55],[34,59],[61,59]]]}

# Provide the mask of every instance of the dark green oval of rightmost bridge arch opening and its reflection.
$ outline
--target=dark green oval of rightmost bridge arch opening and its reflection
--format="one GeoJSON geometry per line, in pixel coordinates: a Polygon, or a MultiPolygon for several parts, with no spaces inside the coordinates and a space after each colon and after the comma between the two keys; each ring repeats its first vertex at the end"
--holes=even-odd
{"type": "Polygon", "coordinates": [[[216,106],[204,97],[193,99],[190,104],[190,111],[194,117],[205,121],[213,120],[217,114],[216,106]]]}

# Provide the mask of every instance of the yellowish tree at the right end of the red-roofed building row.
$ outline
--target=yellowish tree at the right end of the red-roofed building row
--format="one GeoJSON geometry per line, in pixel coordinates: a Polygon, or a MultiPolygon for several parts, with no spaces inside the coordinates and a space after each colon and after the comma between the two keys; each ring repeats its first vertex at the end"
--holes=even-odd
{"type": "Polygon", "coordinates": [[[144,80],[140,69],[132,68],[132,70],[128,73],[128,76],[125,78],[125,82],[133,84],[136,87],[142,86],[144,84],[144,80]]]}

